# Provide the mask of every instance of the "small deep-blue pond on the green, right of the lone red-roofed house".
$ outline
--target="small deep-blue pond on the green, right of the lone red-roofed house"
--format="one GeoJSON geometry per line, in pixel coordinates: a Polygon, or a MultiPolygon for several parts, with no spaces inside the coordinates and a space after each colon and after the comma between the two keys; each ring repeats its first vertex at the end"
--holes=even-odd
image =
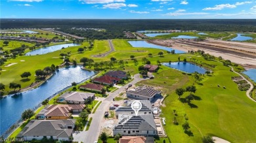
{"type": "Polygon", "coordinates": [[[186,62],[186,63],[185,62],[173,62],[171,64],[163,63],[163,65],[165,65],[167,67],[171,67],[173,69],[178,69],[180,71],[188,72],[188,73],[198,72],[200,74],[204,74],[206,71],[202,67],[199,67],[198,65],[194,65],[194,64],[188,63],[188,62],[186,62]]]}

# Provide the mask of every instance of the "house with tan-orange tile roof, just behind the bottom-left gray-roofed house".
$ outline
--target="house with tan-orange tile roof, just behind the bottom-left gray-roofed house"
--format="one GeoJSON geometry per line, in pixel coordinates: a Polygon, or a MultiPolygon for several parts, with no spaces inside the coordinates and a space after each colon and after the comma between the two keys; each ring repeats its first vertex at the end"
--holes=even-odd
{"type": "Polygon", "coordinates": [[[72,113],[79,113],[84,104],[50,104],[37,114],[37,119],[70,119],[72,113]]]}

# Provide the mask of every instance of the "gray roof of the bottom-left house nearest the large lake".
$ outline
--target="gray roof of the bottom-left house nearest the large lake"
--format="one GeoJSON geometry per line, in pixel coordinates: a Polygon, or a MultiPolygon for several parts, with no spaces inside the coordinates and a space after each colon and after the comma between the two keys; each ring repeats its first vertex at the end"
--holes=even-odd
{"type": "Polygon", "coordinates": [[[32,120],[17,137],[21,136],[60,136],[69,137],[73,129],[64,129],[66,125],[74,125],[75,119],[67,120],[32,120]]]}

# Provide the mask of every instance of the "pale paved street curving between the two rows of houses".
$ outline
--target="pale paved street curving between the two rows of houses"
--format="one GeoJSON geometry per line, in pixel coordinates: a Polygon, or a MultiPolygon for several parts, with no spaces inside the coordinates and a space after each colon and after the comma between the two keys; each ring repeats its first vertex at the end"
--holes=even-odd
{"type": "MultiPolygon", "coordinates": [[[[148,78],[146,78],[148,79],[148,78]]],[[[113,98],[116,97],[121,91],[125,90],[125,88],[129,84],[136,84],[137,82],[140,82],[141,80],[145,80],[144,78],[140,78],[139,74],[135,74],[134,80],[126,84],[125,86],[117,89],[113,93],[109,93],[108,97],[102,101],[100,106],[98,106],[95,114],[93,115],[93,120],[91,122],[91,125],[89,127],[89,130],[87,131],[85,135],[84,142],[86,143],[94,143],[98,140],[98,136],[100,135],[100,129],[102,126],[102,119],[104,118],[104,112],[108,111],[109,104],[113,103],[113,98]]]]}

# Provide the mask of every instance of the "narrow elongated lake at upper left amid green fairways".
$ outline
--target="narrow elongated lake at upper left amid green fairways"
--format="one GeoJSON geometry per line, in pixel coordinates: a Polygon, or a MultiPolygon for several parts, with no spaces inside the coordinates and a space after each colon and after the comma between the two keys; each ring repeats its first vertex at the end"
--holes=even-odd
{"type": "Polygon", "coordinates": [[[63,47],[67,48],[67,47],[70,47],[70,46],[78,46],[78,45],[79,44],[69,43],[69,44],[58,44],[58,45],[54,45],[54,46],[47,46],[47,47],[44,47],[44,48],[39,48],[37,50],[33,50],[31,52],[28,52],[28,53],[26,53],[26,56],[47,54],[47,53],[54,52],[56,50],[60,50],[63,47]]]}

